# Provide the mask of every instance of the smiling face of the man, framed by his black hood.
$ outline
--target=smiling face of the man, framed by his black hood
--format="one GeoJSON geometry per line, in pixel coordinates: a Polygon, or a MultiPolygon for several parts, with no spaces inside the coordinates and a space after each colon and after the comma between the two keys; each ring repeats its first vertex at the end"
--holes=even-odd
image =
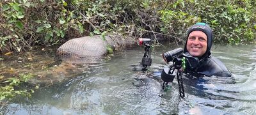
{"type": "Polygon", "coordinates": [[[207,36],[202,31],[192,31],[188,36],[187,49],[194,57],[201,57],[207,50],[207,36]]]}

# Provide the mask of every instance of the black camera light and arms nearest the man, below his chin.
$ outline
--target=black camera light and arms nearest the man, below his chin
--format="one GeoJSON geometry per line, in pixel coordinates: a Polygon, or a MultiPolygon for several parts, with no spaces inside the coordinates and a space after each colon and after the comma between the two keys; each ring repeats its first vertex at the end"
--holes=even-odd
{"type": "Polygon", "coordinates": [[[177,48],[163,53],[163,59],[166,63],[172,61],[172,65],[168,68],[164,68],[161,73],[161,79],[163,82],[163,89],[165,85],[167,86],[169,82],[173,82],[175,76],[177,76],[177,81],[179,84],[179,94],[181,98],[184,98],[184,86],[182,81],[182,73],[186,72],[186,67],[196,68],[198,66],[199,59],[197,57],[191,56],[189,53],[183,53],[182,48],[177,48]],[[177,70],[175,75],[175,70],[177,70]]]}

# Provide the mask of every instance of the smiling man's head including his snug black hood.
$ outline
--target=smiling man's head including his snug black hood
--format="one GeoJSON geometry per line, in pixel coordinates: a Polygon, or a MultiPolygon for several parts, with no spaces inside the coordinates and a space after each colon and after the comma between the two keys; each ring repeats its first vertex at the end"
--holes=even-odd
{"type": "Polygon", "coordinates": [[[194,57],[205,57],[211,54],[212,29],[205,23],[196,23],[189,27],[187,31],[187,41],[185,52],[189,52],[194,57]]]}

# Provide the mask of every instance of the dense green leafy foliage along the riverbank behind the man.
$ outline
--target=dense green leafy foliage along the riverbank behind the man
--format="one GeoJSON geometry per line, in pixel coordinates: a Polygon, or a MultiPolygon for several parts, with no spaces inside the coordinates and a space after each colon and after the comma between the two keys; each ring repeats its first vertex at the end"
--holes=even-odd
{"type": "Polygon", "coordinates": [[[214,42],[255,43],[250,0],[5,0],[0,6],[1,52],[106,33],[182,42],[195,22],[212,27],[214,42]]]}

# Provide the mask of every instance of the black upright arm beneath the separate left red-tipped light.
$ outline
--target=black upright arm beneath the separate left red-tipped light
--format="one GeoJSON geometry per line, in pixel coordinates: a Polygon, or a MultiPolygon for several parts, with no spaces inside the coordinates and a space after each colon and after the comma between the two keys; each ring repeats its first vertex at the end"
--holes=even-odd
{"type": "Polygon", "coordinates": [[[150,66],[152,63],[151,52],[150,52],[150,44],[145,43],[145,53],[141,61],[141,65],[143,66],[143,70],[147,70],[147,66],[150,66]]]}

